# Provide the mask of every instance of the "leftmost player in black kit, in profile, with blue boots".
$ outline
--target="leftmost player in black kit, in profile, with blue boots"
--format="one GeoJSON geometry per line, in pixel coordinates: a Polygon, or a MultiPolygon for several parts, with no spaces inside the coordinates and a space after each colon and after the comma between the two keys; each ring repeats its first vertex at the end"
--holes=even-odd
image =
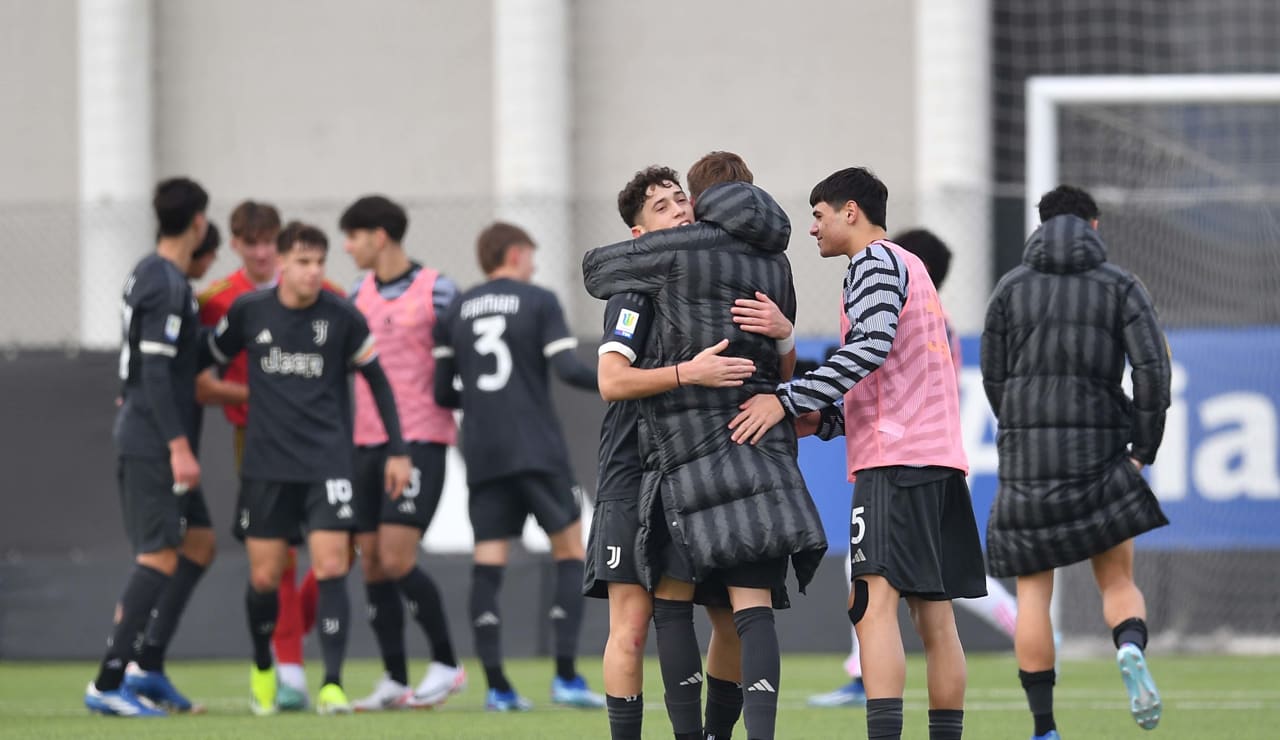
{"type": "MultiPolygon", "coordinates": [[[[187,270],[205,238],[209,195],[187,178],[174,178],[156,186],[151,204],[160,221],[160,239],[155,252],[143,257],[124,283],[123,388],[113,434],[134,566],[97,677],[84,690],[84,705],[91,712],[120,717],[165,716],[124,682],[124,671],[137,657],[137,635],[147,629],[152,609],[165,599],[178,571],[183,513],[204,508],[202,501],[186,498],[200,484],[192,439],[201,356],[200,323],[187,270]]],[[[177,622],[177,613],[165,618],[177,622]]]]}

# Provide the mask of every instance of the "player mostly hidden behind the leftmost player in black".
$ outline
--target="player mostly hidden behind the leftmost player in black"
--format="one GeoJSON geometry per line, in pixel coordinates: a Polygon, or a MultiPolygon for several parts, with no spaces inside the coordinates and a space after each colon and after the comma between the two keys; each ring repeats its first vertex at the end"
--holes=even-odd
{"type": "MultiPolygon", "coordinates": [[[[198,280],[205,277],[209,268],[218,259],[218,247],[221,237],[218,227],[212,223],[205,229],[205,238],[191,255],[191,264],[187,266],[187,279],[198,280]]],[[[246,388],[238,384],[219,382],[219,392],[229,393],[225,397],[207,401],[202,393],[196,392],[196,407],[192,412],[191,437],[188,442],[192,452],[200,456],[200,433],[204,421],[202,403],[223,403],[243,399],[248,396],[246,388]]],[[[198,387],[197,387],[198,388],[198,387]]],[[[136,695],[145,696],[152,704],[157,704],[170,712],[204,712],[200,704],[192,704],[189,699],[169,681],[164,670],[165,653],[169,641],[178,630],[178,621],[191,594],[196,590],[196,584],[214,562],[215,536],[212,522],[209,517],[209,507],[200,487],[195,487],[182,497],[182,513],[179,517],[182,529],[182,545],[178,552],[178,567],[165,589],[164,595],[151,612],[146,632],[141,635],[141,649],[137,661],[128,664],[124,671],[124,685],[136,695]]]]}

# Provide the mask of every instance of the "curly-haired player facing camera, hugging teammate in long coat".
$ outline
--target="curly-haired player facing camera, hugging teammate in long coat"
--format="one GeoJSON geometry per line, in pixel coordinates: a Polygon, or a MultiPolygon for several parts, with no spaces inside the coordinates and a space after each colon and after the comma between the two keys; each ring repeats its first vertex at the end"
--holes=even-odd
{"type": "MultiPolygon", "coordinates": [[[[750,178],[750,170],[735,173],[735,179],[746,178],[750,178]]],[[[692,223],[692,202],[680,187],[678,175],[669,168],[652,166],[636,173],[618,193],[618,213],[634,237],[692,223]]],[[[791,324],[776,306],[773,310],[790,337],[791,324]]],[[[744,314],[746,330],[755,330],[756,324],[763,323],[763,312],[762,318],[756,318],[758,309],[754,306],[735,311],[744,314]]],[[[600,396],[611,403],[600,430],[599,483],[588,538],[585,593],[609,599],[604,689],[613,740],[640,736],[644,643],[653,616],[653,598],[640,584],[635,563],[643,463],[637,438],[639,408],[634,399],[677,387],[675,365],[635,366],[643,358],[652,323],[653,306],[648,297],[639,293],[614,296],[605,306],[604,338],[599,348],[600,396]]],[[[726,347],[727,339],[699,352],[681,366],[681,379],[710,388],[741,385],[755,366],[750,360],[721,356],[726,347]]],[[[714,631],[708,649],[708,704],[701,728],[714,737],[728,737],[742,709],[742,691],[737,684],[741,648],[727,603],[709,608],[708,615],[714,631]]],[[[687,680],[689,676],[680,679],[687,680]]],[[[700,677],[686,681],[684,693],[691,696],[668,694],[668,712],[680,716],[684,722],[691,714],[692,722],[698,722],[701,682],[700,677]]]]}

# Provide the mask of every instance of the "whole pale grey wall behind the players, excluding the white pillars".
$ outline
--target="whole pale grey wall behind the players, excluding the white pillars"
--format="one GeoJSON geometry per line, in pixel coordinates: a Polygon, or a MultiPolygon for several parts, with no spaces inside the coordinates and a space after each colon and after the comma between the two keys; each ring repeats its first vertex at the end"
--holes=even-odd
{"type": "MultiPolygon", "coordinates": [[[[817,257],[808,195],[836,169],[870,165],[890,187],[890,227],[913,225],[914,3],[570,10],[573,328],[596,330],[600,303],[577,287],[577,257],[626,234],[621,186],[649,164],[684,173],[726,149],[791,214],[801,330],[835,334],[844,265],[817,257]]],[[[315,221],[342,283],[355,270],[338,214],[384,192],[410,207],[411,253],[479,279],[474,239],[494,209],[490,3],[163,0],[151,12],[156,177],[198,179],[221,225],[244,197],[315,221]]],[[[0,279],[15,283],[0,291],[0,344],[47,344],[74,335],[74,3],[0,0],[0,279]]],[[[539,236],[536,210],[522,225],[539,236]]],[[[234,261],[224,252],[212,274],[234,261]]]]}

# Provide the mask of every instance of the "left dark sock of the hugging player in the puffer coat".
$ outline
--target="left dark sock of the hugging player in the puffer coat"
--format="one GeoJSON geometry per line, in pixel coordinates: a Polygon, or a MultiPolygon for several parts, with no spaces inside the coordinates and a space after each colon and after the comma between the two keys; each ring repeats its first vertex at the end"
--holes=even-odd
{"type": "Polygon", "coordinates": [[[703,653],[694,631],[694,604],[654,599],[653,626],[671,728],[677,737],[698,737],[703,731],[703,653]]]}

